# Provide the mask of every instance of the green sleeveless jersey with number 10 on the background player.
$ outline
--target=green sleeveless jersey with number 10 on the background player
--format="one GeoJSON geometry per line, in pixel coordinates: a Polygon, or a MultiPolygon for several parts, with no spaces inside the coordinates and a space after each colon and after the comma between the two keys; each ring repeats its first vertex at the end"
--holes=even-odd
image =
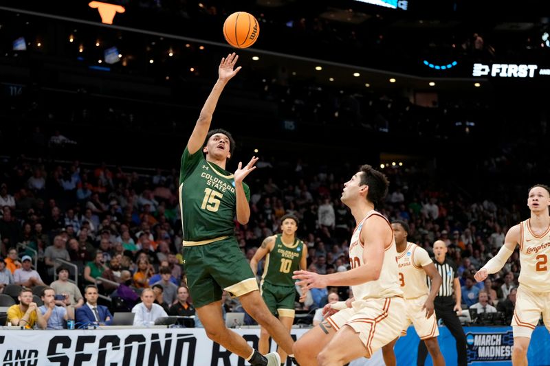
{"type": "Polygon", "coordinates": [[[266,255],[262,282],[276,286],[294,286],[292,275],[300,269],[304,243],[300,239],[294,239],[292,244],[285,244],[281,236],[276,235],[275,245],[266,255]]]}

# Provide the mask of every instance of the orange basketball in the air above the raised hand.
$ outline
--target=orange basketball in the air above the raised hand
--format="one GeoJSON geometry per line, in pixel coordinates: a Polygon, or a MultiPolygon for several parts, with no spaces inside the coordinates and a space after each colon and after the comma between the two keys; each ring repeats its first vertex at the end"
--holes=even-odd
{"type": "Polygon", "coordinates": [[[258,21],[248,12],[234,12],[223,23],[225,41],[235,48],[254,45],[260,34],[258,21]]]}

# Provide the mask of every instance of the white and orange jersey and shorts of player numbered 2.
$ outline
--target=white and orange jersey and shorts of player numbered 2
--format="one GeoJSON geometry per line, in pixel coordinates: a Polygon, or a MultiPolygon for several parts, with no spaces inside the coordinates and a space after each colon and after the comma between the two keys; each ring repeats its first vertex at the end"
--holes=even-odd
{"type": "Polygon", "coordinates": [[[542,312],[550,331],[550,227],[536,236],[529,220],[520,222],[520,286],[511,325],[514,336],[531,338],[542,312]]]}

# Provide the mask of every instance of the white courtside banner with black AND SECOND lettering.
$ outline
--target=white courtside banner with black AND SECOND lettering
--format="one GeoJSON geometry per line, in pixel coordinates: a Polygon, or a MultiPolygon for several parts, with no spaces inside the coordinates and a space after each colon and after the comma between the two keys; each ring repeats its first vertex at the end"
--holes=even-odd
{"type": "MultiPolygon", "coordinates": [[[[293,329],[294,339],[305,329],[293,329]]],[[[258,348],[259,329],[237,329],[258,348]]],[[[272,343],[272,349],[275,345],[272,343]]],[[[250,365],[208,339],[203,329],[3,330],[0,366],[250,365]]],[[[290,365],[290,364],[289,364],[290,365]]]]}

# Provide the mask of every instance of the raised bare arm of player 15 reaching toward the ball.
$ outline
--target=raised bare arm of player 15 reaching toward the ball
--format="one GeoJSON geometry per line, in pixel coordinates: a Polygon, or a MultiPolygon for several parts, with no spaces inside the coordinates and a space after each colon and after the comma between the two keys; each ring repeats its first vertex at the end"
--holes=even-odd
{"type": "Polygon", "coordinates": [[[212,122],[214,109],[216,109],[219,96],[221,95],[221,91],[223,91],[225,84],[227,84],[228,81],[241,69],[240,66],[234,69],[236,60],[238,59],[239,56],[237,56],[234,52],[221,59],[218,68],[218,80],[216,81],[216,84],[214,84],[212,91],[210,91],[210,95],[206,98],[206,102],[201,109],[199,119],[197,119],[197,124],[195,124],[195,128],[193,129],[191,137],[189,137],[189,141],[187,143],[187,150],[189,150],[191,155],[199,151],[204,144],[204,139],[206,139],[208,130],[210,130],[210,122],[212,122]]]}

